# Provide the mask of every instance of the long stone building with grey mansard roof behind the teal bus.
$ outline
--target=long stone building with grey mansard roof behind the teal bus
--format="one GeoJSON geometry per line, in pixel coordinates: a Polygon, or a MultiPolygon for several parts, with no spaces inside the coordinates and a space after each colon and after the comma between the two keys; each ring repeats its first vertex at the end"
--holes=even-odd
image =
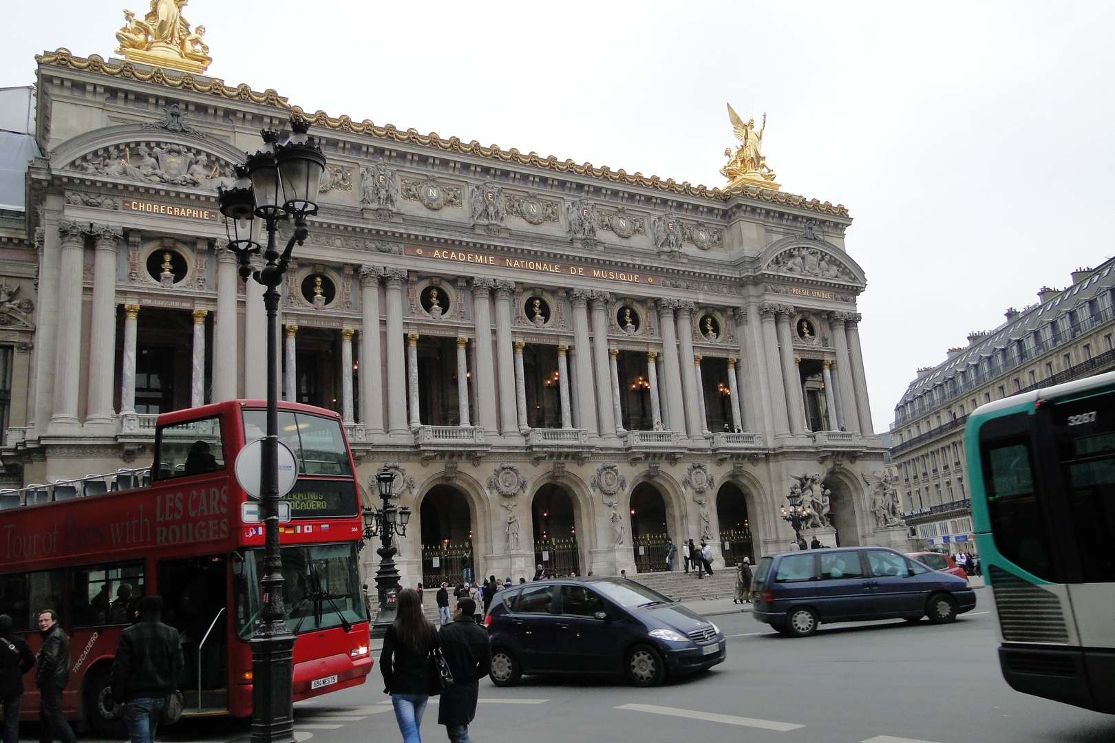
{"type": "Polygon", "coordinates": [[[1115,369],[1115,261],[1073,272],[1064,290],[992,331],[973,332],[918,370],[894,408],[891,448],[902,510],[921,547],[975,550],[964,422],[979,405],[1115,369]]]}

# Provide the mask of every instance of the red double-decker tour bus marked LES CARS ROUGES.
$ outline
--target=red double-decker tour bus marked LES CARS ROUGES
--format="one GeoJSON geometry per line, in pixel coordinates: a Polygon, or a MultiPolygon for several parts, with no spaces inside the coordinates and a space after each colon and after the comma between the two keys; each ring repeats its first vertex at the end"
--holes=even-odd
{"type": "MultiPolygon", "coordinates": [[[[262,608],[263,527],[244,521],[252,499],[233,467],[263,438],[262,400],[158,417],[149,468],[0,492],[0,614],[37,651],[39,612],[70,637],[64,712],[79,726],[120,735],[109,690],[113,653],[144,595],[163,597],[163,622],[185,655],[185,714],[252,713],[248,641],[262,608]]],[[[368,615],[357,570],[359,486],[340,417],[279,403],[279,437],[298,479],[280,525],[283,604],[294,643],[294,700],[363,683],[371,669],[368,615]]],[[[23,717],[38,710],[25,676],[23,717]]]]}

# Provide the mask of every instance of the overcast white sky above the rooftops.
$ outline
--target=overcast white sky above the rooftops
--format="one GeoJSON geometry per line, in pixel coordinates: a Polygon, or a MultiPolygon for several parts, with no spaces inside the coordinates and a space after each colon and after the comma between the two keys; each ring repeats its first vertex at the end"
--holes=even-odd
{"type": "MultiPolygon", "coordinates": [[[[0,87],[109,57],[147,0],[11,2],[0,87]]],[[[845,204],[876,431],[918,366],[1115,254],[1111,2],[191,0],[209,72],[421,133],[721,185],[725,101],[845,204]],[[264,10],[268,12],[264,13],[264,10]]]]}

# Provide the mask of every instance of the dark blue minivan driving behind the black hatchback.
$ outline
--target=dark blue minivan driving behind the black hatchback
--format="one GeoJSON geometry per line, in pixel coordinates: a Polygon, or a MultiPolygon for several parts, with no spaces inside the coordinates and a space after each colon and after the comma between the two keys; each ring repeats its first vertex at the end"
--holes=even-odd
{"type": "Polygon", "coordinates": [[[929,616],[944,624],[976,607],[962,578],[884,547],[811,549],[764,557],[752,584],[755,618],[795,637],[822,622],[929,616]]]}

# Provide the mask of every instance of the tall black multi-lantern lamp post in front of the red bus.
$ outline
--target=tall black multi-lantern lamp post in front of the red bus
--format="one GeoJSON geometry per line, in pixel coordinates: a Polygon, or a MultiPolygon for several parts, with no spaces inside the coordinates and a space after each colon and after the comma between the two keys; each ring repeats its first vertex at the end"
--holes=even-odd
{"type": "Polygon", "coordinates": [[[268,311],[268,431],[260,465],[260,505],[264,521],[263,577],[260,590],[263,608],[252,637],[252,742],[294,743],[292,635],[284,620],[282,558],[279,551],[279,370],[275,354],[279,335],[279,285],[282,284],[294,244],[303,244],[309,231],[306,217],[318,213],[313,202],[321,185],[326,156],[307,135],[308,121],[291,118],[292,134],[283,143],[279,133],[264,130],[263,147],[248,156],[246,166],[236,168],[232,188],[221,192],[221,214],[225,217],[229,248],[240,258],[240,277],[249,276],[266,286],[263,305],[268,311]],[[279,223],[294,218],[294,233],[287,250],[279,253],[275,234],[279,223]],[[260,252],[258,219],[268,233],[263,258],[266,265],[253,271],[249,263],[260,252]]]}

